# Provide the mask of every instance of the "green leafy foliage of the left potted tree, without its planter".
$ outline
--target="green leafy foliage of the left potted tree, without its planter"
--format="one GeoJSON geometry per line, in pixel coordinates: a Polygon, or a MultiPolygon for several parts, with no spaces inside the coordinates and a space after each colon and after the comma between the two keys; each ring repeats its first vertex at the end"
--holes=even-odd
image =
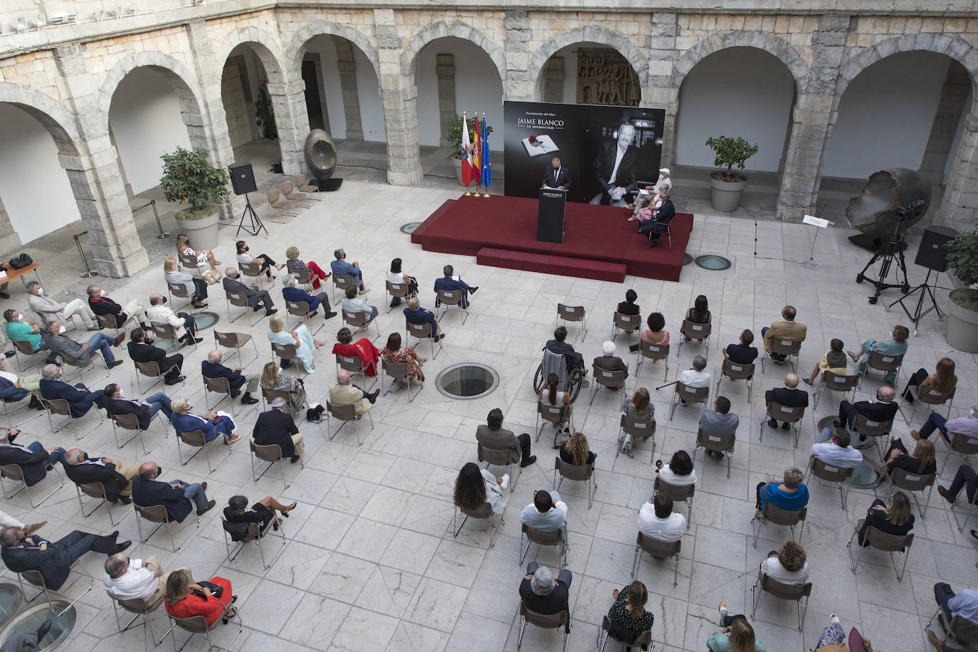
{"type": "Polygon", "coordinates": [[[211,165],[207,152],[178,147],[160,158],[163,196],[167,201],[190,204],[189,209],[180,211],[180,219],[202,220],[214,214],[214,207],[208,204],[228,198],[228,171],[211,165]]]}

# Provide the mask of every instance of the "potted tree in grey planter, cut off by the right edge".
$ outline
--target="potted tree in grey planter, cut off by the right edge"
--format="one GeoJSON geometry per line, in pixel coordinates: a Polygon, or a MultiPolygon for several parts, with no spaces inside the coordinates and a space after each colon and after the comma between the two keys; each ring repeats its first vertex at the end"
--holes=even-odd
{"type": "Polygon", "coordinates": [[[958,234],[944,245],[948,267],[964,283],[951,291],[948,302],[948,344],[958,351],[978,353],[978,230],[958,234]]]}

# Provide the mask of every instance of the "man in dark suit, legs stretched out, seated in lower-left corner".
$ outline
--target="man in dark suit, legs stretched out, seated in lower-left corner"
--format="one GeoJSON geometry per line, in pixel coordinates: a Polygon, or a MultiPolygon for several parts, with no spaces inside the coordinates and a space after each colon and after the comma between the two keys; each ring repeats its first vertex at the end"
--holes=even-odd
{"type": "Polygon", "coordinates": [[[115,554],[132,545],[131,541],[115,543],[118,536],[118,530],[107,537],[74,530],[67,537],[49,542],[40,535],[27,537],[21,528],[4,528],[0,532],[0,557],[15,573],[38,571],[45,587],[58,590],[65,585],[71,564],[81,555],[92,550],[115,554]]]}

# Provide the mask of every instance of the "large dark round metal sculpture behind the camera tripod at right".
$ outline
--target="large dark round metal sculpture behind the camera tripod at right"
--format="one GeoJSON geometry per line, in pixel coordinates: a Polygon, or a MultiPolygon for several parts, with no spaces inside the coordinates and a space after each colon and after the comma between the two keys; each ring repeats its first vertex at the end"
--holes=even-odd
{"type": "Polygon", "coordinates": [[[931,184],[916,170],[894,167],[880,170],[869,177],[863,194],[849,199],[846,217],[854,229],[865,234],[853,241],[873,250],[895,234],[902,234],[920,221],[930,206],[931,184]],[[900,219],[898,211],[914,202],[923,201],[900,219]]]}

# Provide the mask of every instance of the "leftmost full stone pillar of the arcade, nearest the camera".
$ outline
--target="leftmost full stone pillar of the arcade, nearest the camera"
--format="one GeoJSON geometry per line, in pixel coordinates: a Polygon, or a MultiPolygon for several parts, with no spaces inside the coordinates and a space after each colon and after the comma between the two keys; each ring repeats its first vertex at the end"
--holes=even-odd
{"type": "Polygon", "coordinates": [[[111,145],[108,116],[98,109],[99,89],[85,69],[82,45],[55,49],[66,104],[78,130],[77,155],[59,147],[58,156],[88,229],[95,269],[106,277],[126,277],[150,260],[136,231],[122,173],[111,145]]]}

